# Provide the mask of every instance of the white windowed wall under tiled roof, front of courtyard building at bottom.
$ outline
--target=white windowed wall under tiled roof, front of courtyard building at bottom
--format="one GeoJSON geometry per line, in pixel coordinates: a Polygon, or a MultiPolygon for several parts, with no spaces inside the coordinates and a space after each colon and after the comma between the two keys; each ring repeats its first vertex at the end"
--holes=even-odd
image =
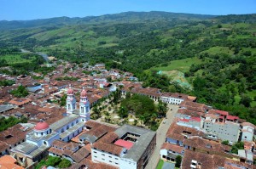
{"type": "Polygon", "coordinates": [[[94,162],[103,162],[108,165],[119,167],[120,157],[111,155],[108,152],[103,152],[99,149],[91,149],[91,160],[94,162]]]}

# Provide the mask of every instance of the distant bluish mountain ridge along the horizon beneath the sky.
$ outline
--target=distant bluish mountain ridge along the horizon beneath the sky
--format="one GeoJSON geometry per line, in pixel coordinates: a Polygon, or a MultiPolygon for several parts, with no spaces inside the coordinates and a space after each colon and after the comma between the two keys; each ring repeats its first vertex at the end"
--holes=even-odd
{"type": "Polygon", "coordinates": [[[152,20],[204,20],[215,16],[206,14],[179,14],[167,12],[125,12],[120,14],[105,14],[102,16],[87,16],[84,18],[57,17],[41,20],[13,20],[0,21],[0,30],[33,28],[39,26],[61,25],[91,25],[100,23],[135,23],[152,20]]]}

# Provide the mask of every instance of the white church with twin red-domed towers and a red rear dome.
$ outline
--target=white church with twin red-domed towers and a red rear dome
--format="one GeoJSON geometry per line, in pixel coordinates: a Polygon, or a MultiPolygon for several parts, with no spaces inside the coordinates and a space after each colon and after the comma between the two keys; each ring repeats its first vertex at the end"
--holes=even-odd
{"type": "Polygon", "coordinates": [[[67,116],[49,125],[40,121],[32,132],[26,134],[26,141],[10,150],[21,166],[32,166],[48,154],[47,149],[54,140],[70,141],[83,131],[84,122],[90,120],[90,103],[86,91],[80,94],[79,109],[71,87],[67,90],[67,116]]]}

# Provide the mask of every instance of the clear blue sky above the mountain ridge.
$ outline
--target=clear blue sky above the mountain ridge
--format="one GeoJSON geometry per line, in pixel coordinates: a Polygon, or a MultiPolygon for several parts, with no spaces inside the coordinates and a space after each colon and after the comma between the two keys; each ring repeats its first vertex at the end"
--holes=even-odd
{"type": "Polygon", "coordinates": [[[256,0],[0,0],[0,20],[153,10],[190,14],[255,14],[256,0]]]}

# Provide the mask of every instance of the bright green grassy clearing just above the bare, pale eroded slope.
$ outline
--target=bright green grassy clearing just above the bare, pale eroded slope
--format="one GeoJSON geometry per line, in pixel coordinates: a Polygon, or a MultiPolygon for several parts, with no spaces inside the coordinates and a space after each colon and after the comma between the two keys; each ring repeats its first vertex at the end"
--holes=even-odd
{"type": "Polygon", "coordinates": [[[189,68],[193,64],[200,64],[201,59],[198,59],[196,57],[194,58],[187,58],[187,59],[179,59],[179,60],[174,60],[169,63],[167,66],[160,66],[160,67],[153,67],[151,70],[179,70],[183,73],[189,71],[189,68]]]}

